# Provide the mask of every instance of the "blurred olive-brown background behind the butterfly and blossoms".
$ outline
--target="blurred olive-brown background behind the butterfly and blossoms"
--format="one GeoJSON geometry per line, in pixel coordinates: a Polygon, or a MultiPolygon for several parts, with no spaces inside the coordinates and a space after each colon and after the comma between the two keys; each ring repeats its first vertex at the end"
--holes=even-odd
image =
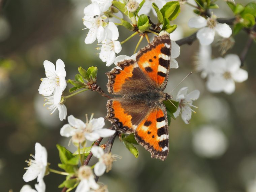
{"type": "MultiPolygon", "coordinates": [[[[248,0],[236,0],[246,5],[248,0]]],[[[106,91],[106,67],[95,50],[97,44],[86,45],[87,30],[82,18],[89,0],[0,0],[0,191],[20,191],[29,154],[34,154],[35,142],[40,142],[48,152],[51,168],[59,169],[56,144],[67,147],[68,138],[60,136],[60,128],[67,120],[60,121],[58,112],[50,115],[38,94],[40,78],[45,76],[43,61],[55,64],[62,59],[67,71],[66,79],[74,78],[78,66],[98,67],[98,84],[106,91]]],[[[217,1],[218,17],[232,17],[226,2],[217,1]]],[[[195,14],[188,5],[182,5],[175,24],[179,27],[171,35],[173,40],[194,32],[188,28],[188,20],[195,14]]],[[[152,15],[153,16],[153,15],[152,15]]],[[[156,18],[152,17],[155,21],[156,18]]],[[[119,40],[131,32],[119,27],[119,40]]],[[[153,36],[151,36],[153,38],[153,36]]],[[[235,36],[235,45],[228,53],[240,54],[247,41],[242,31],[235,36]]],[[[123,44],[120,54],[132,55],[139,37],[123,44]]],[[[140,48],[147,44],[143,40],[140,48]]],[[[220,52],[212,44],[213,57],[220,52]]],[[[181,79],[194,69],[198,41],[183,45],[177,59],[179,69],[170,70],[166,92],[172,90],[181,79]]],[[[176,90],[182,87],[200,91],[193,104],[198,106],[189,125],[179,116],[169,128],[170,152],[166,161],[151,159],[150,154],[137,146],[136,159],[116,139],[113,154],[123,158],[113,165],[113,170],[99,179],[110,192],[255,192],[256,191],[256,44],[248,53],[244,69],[249,78],[236,84],[232,95],[212,94],[205,89],[200,73],[190,75],[176,90]]],[[[68,89],[64,95],[68,95],[68,89]]],[[[107,99],[98,93],[86,91],[68,99],[65,103],[68,115],[85,121],[85,114],[95,113],[105,117],[107,99]]],[[[105,127],[110,123],[105,121],[105,127]]],[[[104,143],[105,140],[102,141],[104,143]]],[[[75,149],[72,145],[71,151],[75,149]]],[[[96,162],[96,158],[92,162],[96,162]]],[[[51,173],[44,178],[46,191],[61,191],[58,185],[63,175],[51,173]]],[[[34,185],[35,181],[29,183],[34,185]]]]}

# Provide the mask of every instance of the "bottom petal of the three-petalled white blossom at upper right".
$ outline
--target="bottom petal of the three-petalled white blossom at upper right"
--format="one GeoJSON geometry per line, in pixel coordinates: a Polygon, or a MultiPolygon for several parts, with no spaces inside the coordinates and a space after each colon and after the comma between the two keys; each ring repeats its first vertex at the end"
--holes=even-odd
{"type": "Polygon", "coordinates": [[[210,45],[214,40],[214,36],[214,29],[211,29],[209,27],[199,29],[196,33],[196,37],[198,38],[201,45],[210,45]]]}

